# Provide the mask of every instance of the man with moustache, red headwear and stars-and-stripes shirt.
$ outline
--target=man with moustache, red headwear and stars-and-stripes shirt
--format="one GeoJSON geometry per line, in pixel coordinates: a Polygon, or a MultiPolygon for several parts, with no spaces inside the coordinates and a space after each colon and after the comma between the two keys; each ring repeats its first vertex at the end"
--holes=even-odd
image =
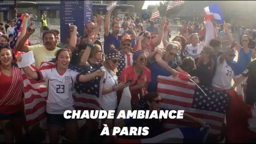
{"type": "Polygon", "coordinates": [[[133,64],[133,54],[131,53],[131,37],[124,36],[121,38],[120,59],[118,61],[117,77],[120,77],[125,67],[133,64]]]}

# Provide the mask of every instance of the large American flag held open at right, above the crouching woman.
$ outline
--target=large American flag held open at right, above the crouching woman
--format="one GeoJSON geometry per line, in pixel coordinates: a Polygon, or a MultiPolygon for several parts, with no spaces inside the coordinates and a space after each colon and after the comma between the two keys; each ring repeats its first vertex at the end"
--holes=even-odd
{"type": "MultiPolygon", "coordinates": [[[[226,91],[214,91],[203,86],[201,88],[207,96],[194,83],[158,76],[157,92],[163,99],[161,107],[185,110],[187,114],[204,120],[211,127],[209,136],[217,137],[221,133],[229,95],[226,91]]],[[[173,119],[166,122],[167,129],[198,126],[197,123],[187,120],[173,119]]]]}

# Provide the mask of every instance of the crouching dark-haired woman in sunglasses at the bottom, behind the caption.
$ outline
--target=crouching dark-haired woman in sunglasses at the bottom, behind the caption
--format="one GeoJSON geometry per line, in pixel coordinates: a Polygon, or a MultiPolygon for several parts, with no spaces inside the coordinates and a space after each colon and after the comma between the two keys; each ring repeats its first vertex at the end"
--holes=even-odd
{"type": "MultiPolygon", "coordinates": [[[[171,110],[171,109],[165,109],[161,108],[161,103],[163,99],[161,99],[160,95],[157,92],[149,92],[138,103],[133,103],[133,107],[135,109],[133,110],[149,110],[150,113],[153,110],[157,110],[157,112],[160,112],[160,110],[171,110]]],[[[188,115],[184,113],[184,119],[191,120],[195,123],[198,123],[200,126],[205,127],[206,123],[203,120],[200,120],[198,118],[192,117],[191,115],[188,115]]],[[[166,130],[163,126],[164,120],[162,119],[125,119],[123,121],[120,121],[117,123],[117,127],[123,128],[123,127],[148,127],[149,128],[149,134],[147,136],[134,136],[136,139],[148,139],[155,137],[157,135],[160,135],[161,133],[164,133],[166,130]]],[[[199,130],[199,128],[198,128],[199,130]]],[[[192,134],[192,133],[191,133],[192,134]]],[[[123,136],[122,136],[123,137],[123,136]]],[[[128,136],[128,138],[132,138],[133,136],[128,136]]],[[[195,141],[193,141],[195,142],[195,141]]]]}

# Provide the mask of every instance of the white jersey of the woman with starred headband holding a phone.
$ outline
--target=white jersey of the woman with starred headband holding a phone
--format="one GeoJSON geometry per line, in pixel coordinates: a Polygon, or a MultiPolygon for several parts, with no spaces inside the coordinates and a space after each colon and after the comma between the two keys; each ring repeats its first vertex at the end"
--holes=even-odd
{"type": "MultiPolygon", "coordinates": [[[[100,69],[105,69],[105,67],[103,66],[100,69]]],[[[118,84],[117,79],[118,77],[113,71],[109,73],[106,70],[104,77],[101,77],[101,82],[103,83],[102,89],[112,88],[112,86],[117,85],[118,84]]],[[[102,109],[108,111],[108,110],[114,110],[117,108],[117,92],[116,91],[112,91],[111,93],[101,95],[99,99],[100,99],[102,109]]]]}

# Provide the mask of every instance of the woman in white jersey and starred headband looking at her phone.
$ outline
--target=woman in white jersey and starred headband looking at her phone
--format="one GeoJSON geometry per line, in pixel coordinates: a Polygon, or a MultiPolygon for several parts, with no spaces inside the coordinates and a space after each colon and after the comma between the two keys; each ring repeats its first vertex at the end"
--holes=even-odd
{"type": "MultiPolygon", "coordinates": [[[[117,109],[117,91],[123,90],[124,88],[128,87],[130,83],[119,83],[117,81],[117,66],[118,61],[120,59],[119,53],[116,49],[111,48],[105,54],[105,61],[103,67],[104,69],[104,77],[101,77],[101,85],[102,85],[102,93],[99,96],[101,108],[103,110],[116,110],[117,109]]],[[[104,119],[101,120],[102,124],[107,124],[109,131],[113,127],[113,120],[112,119],[104,119]]],[[[103,142],[110,142],[111,137],[106,136],[103,142]]]]}

